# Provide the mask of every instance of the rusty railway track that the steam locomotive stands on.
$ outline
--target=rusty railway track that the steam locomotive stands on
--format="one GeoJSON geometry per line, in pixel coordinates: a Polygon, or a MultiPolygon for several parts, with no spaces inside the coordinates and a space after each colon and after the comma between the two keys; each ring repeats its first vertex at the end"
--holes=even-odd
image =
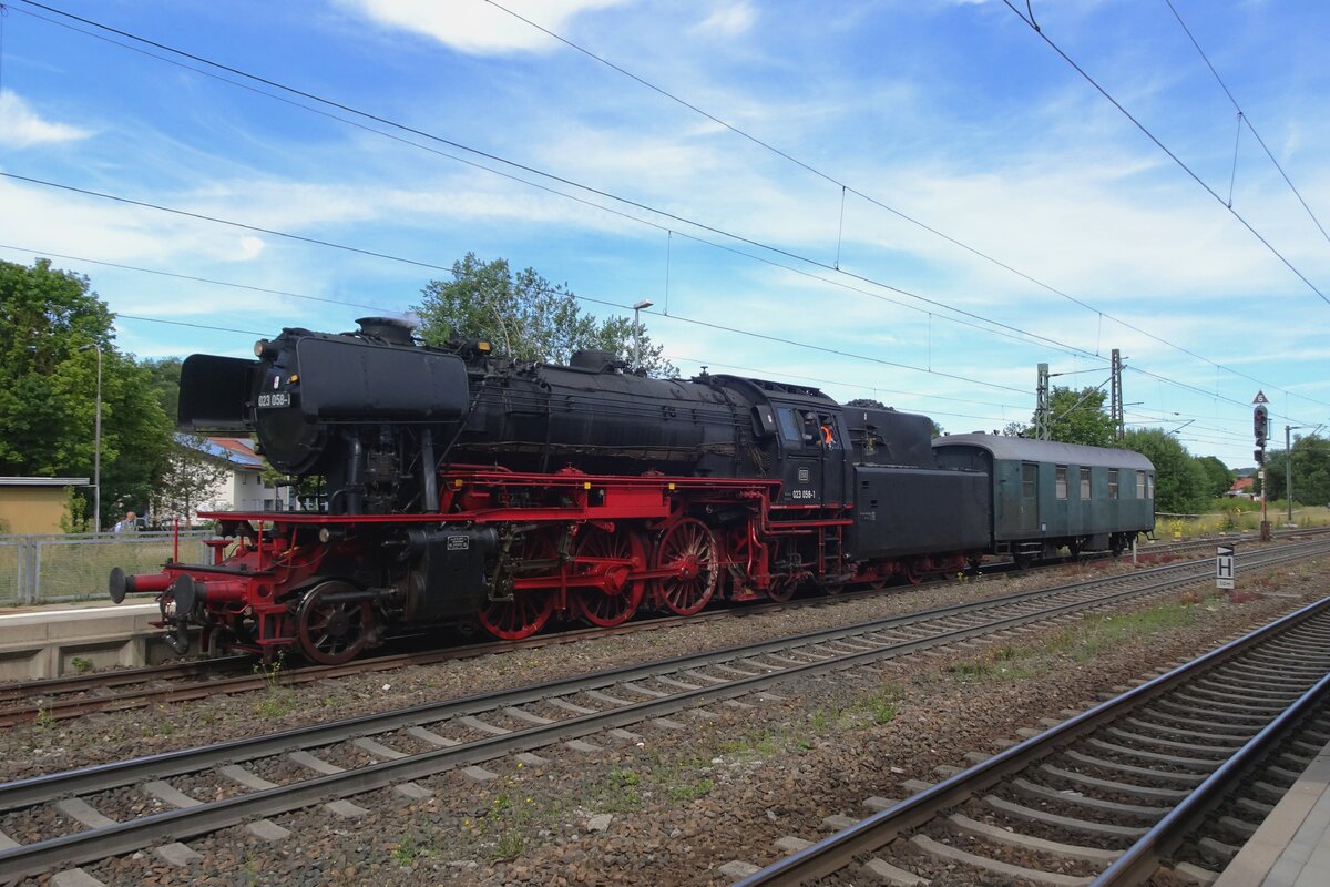
{"type": "MultiPolygon", "coordinates": [[[[1149,556],[1178,555],[1212,545],[1212,540],[1189,540],[1185,543],[1150,545],[1144,553],[1149,556]]],[[[1051,564],[1051,567],[1059,565],[1061,564],[1051,564]]],[[[996,563],[986,565],[984,573],[1000,574],[1012,568],[1013,565],[1009,563],[996,563]]],[[[735,614],[751,616],[799,606],[837,605],[879,593],[874,590],[847,592],[835,597],[805,597],[779,604],[745,604],[735,608],[710,610],[693,617],[658,616],[638,618],[610,629],[572,629],[557,634],[541,634],[523,641],[487,641],[427,652],[364,657],[346,665],[287,665],[281,669],[281,676],[275,680],[283,686],[295,686],[350,674],[383,672],[414,665],[434,665],[450,660],[464,660],[492,653],[505,653],[553,644],[571,644],[592,637],[656,630],[684,622],[697,624],[700,621],[725,620],[735,614]]],[[[265,690],[273,682],[273,672],[265,672],[258,668],[254,657],[225,656],[213,660],[168,662],[136,669],[117,669],[60,678],[0,684],[0,727],[35,721],[61,721],[93,711],[113,711],[156,703],[165,705],[201,699],[218,693],[265,690]]]]}

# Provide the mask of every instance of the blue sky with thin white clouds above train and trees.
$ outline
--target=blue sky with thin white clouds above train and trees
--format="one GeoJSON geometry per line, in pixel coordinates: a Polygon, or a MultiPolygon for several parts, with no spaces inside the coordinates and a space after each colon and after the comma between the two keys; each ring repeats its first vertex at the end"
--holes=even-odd
{"type": "MultiPolygon", "coordinates": [[[[0,258],[88,274],[140,356],[404,313],[475,251],[598,315],[653,301],[685,375],[814,382],[952,432],[1028,422],[1040,362],[1107,382],[1115,347],[1128,424],[1197,455],[1252,464],[1258,388],[1277,438],[1330,423],[1330,238],[1164,0],[1029,8],[1221,201],[1000,0],[504,4],[787,157],[483,0],[49,5],[427,133],[9,3],[0,258]]],[[[1330,8],[1173,7],[1330,226],[1330,8]]]]}

